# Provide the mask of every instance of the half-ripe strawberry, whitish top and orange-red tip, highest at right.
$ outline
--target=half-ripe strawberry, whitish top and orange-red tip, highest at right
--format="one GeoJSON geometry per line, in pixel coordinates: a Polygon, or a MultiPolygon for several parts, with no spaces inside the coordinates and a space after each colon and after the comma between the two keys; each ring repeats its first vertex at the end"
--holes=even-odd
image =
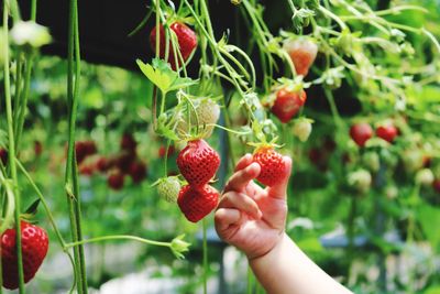
{"type": "Polygon", "coordinates": [[[295,70],[298,75],[307,76],[311,64],[318,54],[318,46],[310,39],[301,37],[290,40],[284,43],[284,50],[287,51],[295,70]]]}

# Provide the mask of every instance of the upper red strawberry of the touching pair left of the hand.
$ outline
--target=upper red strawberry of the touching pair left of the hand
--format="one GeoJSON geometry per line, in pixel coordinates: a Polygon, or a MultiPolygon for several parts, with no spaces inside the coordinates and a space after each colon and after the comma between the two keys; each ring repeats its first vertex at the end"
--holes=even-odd
{"type": "Polygon", "coordinates": [[[189,141],[177,156],[177,166],[188,184],[206,185],[220,166],[220,156],[205,140],[189,141]]]}

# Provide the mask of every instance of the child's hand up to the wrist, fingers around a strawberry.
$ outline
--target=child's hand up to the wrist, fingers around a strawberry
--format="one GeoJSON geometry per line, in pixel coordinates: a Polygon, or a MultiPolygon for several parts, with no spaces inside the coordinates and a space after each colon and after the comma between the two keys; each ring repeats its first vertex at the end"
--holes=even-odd
{"type": "Polygon", "coordinates": [[[292,160],[285,156],[284,164],[285,176],[280,184],[263,189],[253,182],[260,174],[260,165],[252,163],[251,154],[244,155],[221,196],[216,230],[249,259],[266,254],[283,238],[292,160]]]}

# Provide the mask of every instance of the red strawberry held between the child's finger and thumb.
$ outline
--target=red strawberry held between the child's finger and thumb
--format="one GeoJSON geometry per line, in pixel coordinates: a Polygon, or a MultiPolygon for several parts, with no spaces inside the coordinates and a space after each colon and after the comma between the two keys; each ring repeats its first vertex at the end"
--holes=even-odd
{"type": "Polygon", "coordinates": [[[261,166],[256,179],[265,186],[274,186],[283,179],[285,167],[283,155],[276,152],[271,145],[263,145],[255,150],[253,162],[261,166]]]}

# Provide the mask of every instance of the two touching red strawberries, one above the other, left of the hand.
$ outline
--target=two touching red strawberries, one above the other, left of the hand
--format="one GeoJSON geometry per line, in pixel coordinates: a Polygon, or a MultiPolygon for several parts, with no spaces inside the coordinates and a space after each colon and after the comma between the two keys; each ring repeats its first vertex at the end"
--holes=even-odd
{"type": "Polygon", "coordinates": [[[206,141],[194,140],[178,154],[177,166],[188,182],[177,204],[189,221],[197,222],[217,207],[219,193],[208,183],[220,166],[220,156],[206,141]]]}

